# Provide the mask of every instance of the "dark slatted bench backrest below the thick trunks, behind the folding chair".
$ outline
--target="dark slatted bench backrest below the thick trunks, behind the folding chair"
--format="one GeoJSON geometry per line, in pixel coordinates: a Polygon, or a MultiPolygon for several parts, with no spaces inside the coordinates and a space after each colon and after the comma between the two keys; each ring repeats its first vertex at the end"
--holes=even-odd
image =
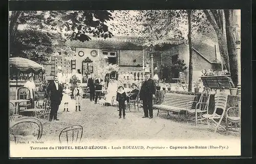
{"type": "Polygon", "coordinates": [[[203,85],[211,89],[220,89],[221,87],[229,89],[234,87],[232,79],[228,76],[201,76],[200,78],[203,81],[203,85]]]}

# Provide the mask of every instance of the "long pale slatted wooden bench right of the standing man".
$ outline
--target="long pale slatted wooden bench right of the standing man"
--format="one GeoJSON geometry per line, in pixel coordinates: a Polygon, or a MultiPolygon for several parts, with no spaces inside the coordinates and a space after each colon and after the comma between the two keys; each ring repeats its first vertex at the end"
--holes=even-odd
{"type": "Polygon", "coordinates": [[[196,95],[165,93],[163,102],[160,105],[153,105],[153,109],[158,109],[157,116],[159,114],[159,110],[167,111],[168,115],[169,111],[178,112],[180,115],[181,110],[186,111],[193,107],[196,98],[196,95]]]}

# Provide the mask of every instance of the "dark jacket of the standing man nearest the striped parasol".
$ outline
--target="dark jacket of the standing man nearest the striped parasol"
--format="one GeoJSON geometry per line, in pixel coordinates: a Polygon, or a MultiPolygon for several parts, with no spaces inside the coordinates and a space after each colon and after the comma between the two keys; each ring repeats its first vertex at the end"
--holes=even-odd
{"type": "Polygon", "coordinates": [[[58,90],[56,89],[56,85],[54,82],[51,82],[47,87],[47,95],[51,92],[50,100],[53,103],[60,104],[62,100],[62,87],[61,84],[58,83],[58,90]]]}

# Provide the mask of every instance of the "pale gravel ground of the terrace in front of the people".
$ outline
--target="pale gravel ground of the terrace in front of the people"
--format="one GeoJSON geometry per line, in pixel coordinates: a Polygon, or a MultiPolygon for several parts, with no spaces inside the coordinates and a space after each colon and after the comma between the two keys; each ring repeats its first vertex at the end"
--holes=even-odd
{"type": "Polygon", "coordinates": [[[156,117],[154,110],[153,119],[142,119],[143,109],[139,111],[131,108],[126,112],[126,119],[118,119],[117,107],[94,104],[88,99],[83,99],[80,112],[75,112],[75,104],[70,104],[70,112],[62,112],[60,105],[58,111],[59,121],[44,122],[42,140],[56,142],[60,131],[68,126],[81,125],[83,136],[81,142],[88,140],[116,140],[116,139],[237,139],[238,133],[214,133],[207,131],[207,125],[187,122],[182,116],[168,116],[161,113],[156,117]]]}

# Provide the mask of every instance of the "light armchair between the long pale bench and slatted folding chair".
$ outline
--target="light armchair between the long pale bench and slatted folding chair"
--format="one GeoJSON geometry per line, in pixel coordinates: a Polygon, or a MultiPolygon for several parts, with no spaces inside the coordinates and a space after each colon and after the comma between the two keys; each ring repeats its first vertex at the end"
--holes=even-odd
{"type": "Polygon", "coordinates": [[[195,118],[193,118],[193,121],[196,122],[196,126],[197,126],[198,121],[200,121],[202,123],[202,120],[205,120],[205,118],[203,118],[202,114],[203,113],[208,114],[210,91],[211,91],[210,88],[208,88],[208,87],[204,88],[204,90],[202,91],[201,96],[199,98],[199,101],[196,104],[195,109],[188,109],[186,111],[186,115],[189,117],[191,115],[195,115],[195,118]]]}

